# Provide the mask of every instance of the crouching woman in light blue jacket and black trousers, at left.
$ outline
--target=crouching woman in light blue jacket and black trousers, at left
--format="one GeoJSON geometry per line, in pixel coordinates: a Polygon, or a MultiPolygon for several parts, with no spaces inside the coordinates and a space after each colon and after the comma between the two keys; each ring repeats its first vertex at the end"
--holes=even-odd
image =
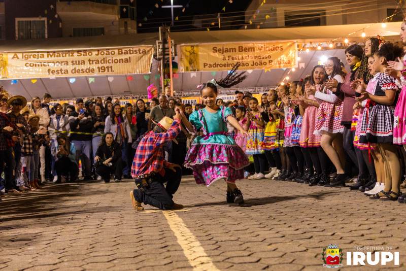
{"type": "Polygon", "coordinates": [[[79,166],[76,163],[76,147],[74,143],[67,140],[66,134],[59,133],[56,137],[58,142],[56,148],[55,170],[58,179],[55,183],[61,183],[61,177],[66,176],[66,181],[73,183],[79,172],[79,166]]]}

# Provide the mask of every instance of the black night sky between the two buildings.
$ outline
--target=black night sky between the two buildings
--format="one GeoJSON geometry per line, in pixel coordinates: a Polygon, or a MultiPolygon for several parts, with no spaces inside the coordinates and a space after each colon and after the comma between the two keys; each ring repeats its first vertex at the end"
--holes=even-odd
{"type": "MultiPolygon", "coordinates": [[[[241,16],[232,18],[232,20],[235,21],[233,24],[241,24],[242,20],[244,20],[244,11],[251,1],[252,0],[233,0],[232,3],[229,3],[229,0],[174,0],[174,5],[182,5],[185,7],[189,4],[189,7],[185,8],[185,12],[182,12],[182,8],[174,8],[174,18],[179,15],[179,21],[175,21],[175,25],[171,26],[171,31],[207,31],[207,27],[209,27],[210,30],[218,30],[216,14],[220,12],[221,17],[223,7],[226,7],[226,13],[238,12],[227,16],[241,16]],[[212,14],[210,15],[210,17],[213,18],[211,21],[215,22],[215,25],[203,24],[203,28],[200,29],[191,25],[193,16],[204,14],[212,14]]],[[[162,24],[171,25],[171,9],[161,8],[161,6],[167,5],[171,5],[170,0],[163,0],[163,2],[160,0],[137,0],[137,24],[142,24],[142,26],[138,26],[138,32],[156,32],[158,31],[158,27],[162,24]],[[159,8],[156,8],[155,4],[158,4],[159,8]],[[153,13],[149,14],[151,10],[153,13]],[[144,21],[144,17],[147,17],[148,20],[144,21]]],[[[241,25],[231,25],[222,27],[221,29],[239,29],[240,27],[241,25]]]]}

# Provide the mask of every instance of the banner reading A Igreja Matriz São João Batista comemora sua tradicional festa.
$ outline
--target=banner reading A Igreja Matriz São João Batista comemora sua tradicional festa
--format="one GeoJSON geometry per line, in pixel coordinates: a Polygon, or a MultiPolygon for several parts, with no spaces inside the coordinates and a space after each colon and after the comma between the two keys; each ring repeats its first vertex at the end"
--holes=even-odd
{"type": "Polygon", "coordinates": [[[0,53],[0,79],[150,73],[153,46],[0,53]]]}

